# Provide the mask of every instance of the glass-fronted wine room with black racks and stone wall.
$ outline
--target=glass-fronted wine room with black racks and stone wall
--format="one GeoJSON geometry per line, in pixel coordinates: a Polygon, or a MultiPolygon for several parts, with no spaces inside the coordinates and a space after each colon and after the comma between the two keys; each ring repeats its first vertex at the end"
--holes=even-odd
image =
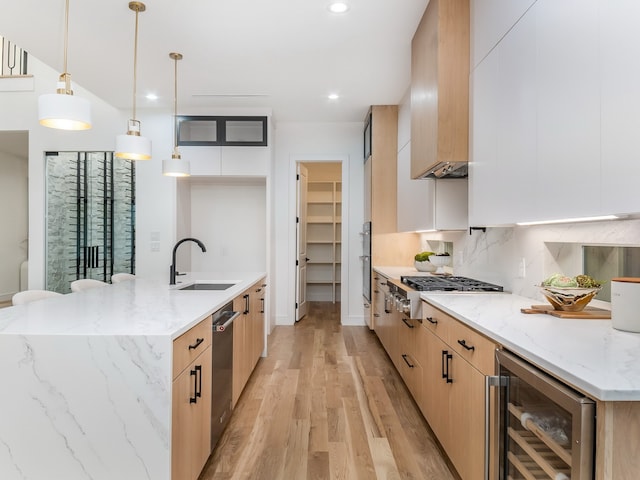
{"type": "Polygon", "coordinates": [[[58,152],[46,168],[46,288],[68,293],[78,278],[134,273],[133,163],[111,152],[58,152]]]}

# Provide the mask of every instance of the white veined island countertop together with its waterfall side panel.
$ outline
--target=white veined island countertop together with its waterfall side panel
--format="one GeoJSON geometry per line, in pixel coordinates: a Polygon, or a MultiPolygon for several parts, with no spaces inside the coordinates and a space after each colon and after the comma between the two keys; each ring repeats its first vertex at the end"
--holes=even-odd
{"type": "Polygon", "coordinates": [[[224,291],[138,278],[0,310],[0,478],[169,480],[173,341],[264,276],[176,286],[224,291]]]}

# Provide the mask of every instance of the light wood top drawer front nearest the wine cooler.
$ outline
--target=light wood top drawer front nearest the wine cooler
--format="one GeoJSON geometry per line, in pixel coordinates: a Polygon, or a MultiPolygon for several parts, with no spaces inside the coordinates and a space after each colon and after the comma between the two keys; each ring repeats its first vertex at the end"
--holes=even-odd
{"type": "Polygon", "coordinates": [[[494,375],[497,348],[494,342],[463,323],[453,320],[449,327],[449,345],[480,372],[494,375]]]}

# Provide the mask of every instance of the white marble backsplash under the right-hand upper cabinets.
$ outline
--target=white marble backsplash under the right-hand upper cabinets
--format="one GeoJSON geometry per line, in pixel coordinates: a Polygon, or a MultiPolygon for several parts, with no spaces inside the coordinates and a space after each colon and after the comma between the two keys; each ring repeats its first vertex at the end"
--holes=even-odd
{"type": "Polygon", "coordinates": [[[583,245],[640,246],[640,219],[421,234],[425,249],[437,251],[441,242],[453,242],[454,274],[542,300],[536,287],[542,279],[583,273],[583,245]]]}

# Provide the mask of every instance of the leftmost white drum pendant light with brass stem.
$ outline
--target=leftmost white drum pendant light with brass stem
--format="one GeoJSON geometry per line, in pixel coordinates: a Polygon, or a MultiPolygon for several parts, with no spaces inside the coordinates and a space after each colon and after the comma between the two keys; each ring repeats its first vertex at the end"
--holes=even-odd
{"type": "Polygon", "coordinates": [[[71,88],[71,74],[67,72],[69,45],[69,0],[64,17],[64,72],[60,74],[56,93],[38,98],[40,125],[61,130],[88,130],[91,128],[91,105],[86,98],[75,97],[71,88]]]}

